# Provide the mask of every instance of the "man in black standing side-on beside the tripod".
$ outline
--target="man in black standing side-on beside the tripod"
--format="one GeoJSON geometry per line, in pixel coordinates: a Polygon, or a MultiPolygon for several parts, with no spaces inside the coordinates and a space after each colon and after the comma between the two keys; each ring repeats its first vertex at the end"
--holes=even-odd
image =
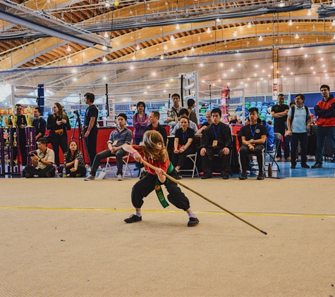
{"type": "Polygon", "coordinates": [[[86,93],[84,99],[85,104],[87,104],[84,119],[85,147],[88,158],[90,159],[90,166],[92,167],[95,156],[97,155],[98,108],[93,104],[95,102],[95,94],[86,93]]]}

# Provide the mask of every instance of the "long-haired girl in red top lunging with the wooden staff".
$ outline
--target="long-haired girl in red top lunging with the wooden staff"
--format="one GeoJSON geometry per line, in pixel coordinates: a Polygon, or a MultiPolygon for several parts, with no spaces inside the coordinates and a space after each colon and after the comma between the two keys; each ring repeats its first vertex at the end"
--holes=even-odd
{"type": "Polygon", "coordinates": [[[142,160],[145,160],[147,163],[150,163],[157,168],[156,170],[153,170],[144,164],[148,173],[134,185],[133,190],[131,191],[131,201],[135,207],[135,215],[130,215],[130,217],[126,218],[124,221],[133,223],[142,220],[141,207],[143,198],[148,196],[154,190],[156,191],[162,206],[164,208],[169,206],[162,191],[162,185],[164,184],[166,190],[169,192],[169,195],[167,196],[168,200],[173,206],[181,208],[188,213],[188,227],[197,225],[199,220],[197,220],[197,217],[190,209],[190,201],[188,201],[188,198],[183,194],[176,182],[166,179],[163,175],[163,172],[166,172],[171,175],[171,177],[176,178],[176,170],[170,163],[169,154],[166,151],[162,134],[157,131],[147,131],[143,135],[142,146],[123,144],[122,148],[125,151],[128,151],[128,153],[133,154],[135,160],[139,163],[142,163],[142,160]]]}

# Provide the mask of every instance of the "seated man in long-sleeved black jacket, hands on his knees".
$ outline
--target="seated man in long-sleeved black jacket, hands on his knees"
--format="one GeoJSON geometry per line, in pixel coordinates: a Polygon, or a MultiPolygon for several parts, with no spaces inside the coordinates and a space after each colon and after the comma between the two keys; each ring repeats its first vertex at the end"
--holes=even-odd
{"type": "Polygon", "coordinates": [[[221,177],[229,179],[231,129],[221,122],[221,109],[214,108],[211,112],[213,123],[205,129],[200,144],[202,160],[202,179],[212,178],[212,160],[214,155],[221,158],[221,177]]]}

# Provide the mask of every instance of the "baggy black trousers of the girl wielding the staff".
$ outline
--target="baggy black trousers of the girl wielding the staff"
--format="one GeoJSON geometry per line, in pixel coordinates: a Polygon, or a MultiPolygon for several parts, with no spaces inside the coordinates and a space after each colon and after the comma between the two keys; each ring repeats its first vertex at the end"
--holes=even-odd
{"type": "MultiPolygon", "coordinates": [[[[176,178],[176,170],[173,170],[169,175],[171,177],[176,178]]],[[[133,203],[133,206],[135,208],[141,208],[143,205],[143,198],[148,196],[152,191],[154,191],[154,184],[157,180],[157,175],[152,175],[148,173],[140,179],[133,187],[131,191],[131,202],[133,203]]],[[[173,206],[176,206],[176,208],[180,208],[182,210],[188,210],[190,208],[190,201],[188,201],[188,198],[183,194],[181,189],[178,187],[178,185],[175,182],[172,182],[169,179],[166,179],[164,182],[164,185],[169,192],[169,195],[167,196],[168,200],[173,204],[173,206]]],[[[158,198],[157,198],[158,199],[158,198]]]]}

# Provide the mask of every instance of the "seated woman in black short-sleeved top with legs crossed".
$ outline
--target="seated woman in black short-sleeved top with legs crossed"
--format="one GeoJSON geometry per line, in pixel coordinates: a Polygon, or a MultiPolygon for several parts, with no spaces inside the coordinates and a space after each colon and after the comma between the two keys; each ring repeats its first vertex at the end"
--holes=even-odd
{"type": "Polygon", "coordinates": [[[177,179],[181,179],[181,169],[185,163],[186,156],[195,153],[193,144],[194,130],[188,127],[188,117],[181,117],[181,128],[176,130],[172,154],[172,165],[176,168],[177,179]]]}

